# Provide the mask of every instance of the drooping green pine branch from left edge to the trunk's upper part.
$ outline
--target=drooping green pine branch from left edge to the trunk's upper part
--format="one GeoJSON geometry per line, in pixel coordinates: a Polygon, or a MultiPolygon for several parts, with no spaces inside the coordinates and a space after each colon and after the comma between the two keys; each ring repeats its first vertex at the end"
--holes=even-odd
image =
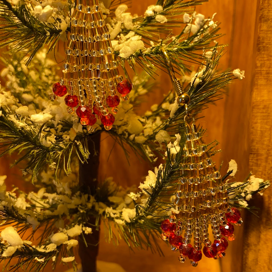
{"type": "Polygon", "coordinates": [[[2,113],[0,117],[0,137],[2,139],[0,157],[14,152],[21,154],[14,165],[22,161],[27,162],[25,171],[26,173],[32,172],[32,181],[47,165],[54,167],[56,177],[60,169],[63,169],[66,174],[71,173],[70,162],[74,156],[73,150],[82,162],[87,160],[89,152],[83,137],[69,143],[63,143],[63,139],[59,138],[54,145],[46,147],[41,143],[43,126],[39,128],[38,133],[36,132],[37,126],[32,122],[29,122],[29,126],[18,128],[16,123],[6,117],[8,113],[4,109],[2,113]]]}

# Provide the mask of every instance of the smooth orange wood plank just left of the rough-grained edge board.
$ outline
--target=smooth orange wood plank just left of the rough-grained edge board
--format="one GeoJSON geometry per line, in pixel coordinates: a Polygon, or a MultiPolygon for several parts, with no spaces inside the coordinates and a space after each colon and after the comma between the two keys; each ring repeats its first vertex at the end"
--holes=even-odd
{"type": "MultiPolygon", "coordinates": [[[[230,92],[225,100],[221,158],[225,162],[223,168],[227,167],[226,163],[231,159],[236,160],[239,170],[236,174],[237,181],[243,181],[249,173],[250,103],[254,75],[257,4],[258,0],[235,1],[232,17],[229,67],[246,70],[246,78],[242,82],[236,80],[230,86],[230,92]]],[[[224,272],[242,270],[243,225],[235,228],[236,240],[229,243],[227,255],[221,260],[224,272]]]]}

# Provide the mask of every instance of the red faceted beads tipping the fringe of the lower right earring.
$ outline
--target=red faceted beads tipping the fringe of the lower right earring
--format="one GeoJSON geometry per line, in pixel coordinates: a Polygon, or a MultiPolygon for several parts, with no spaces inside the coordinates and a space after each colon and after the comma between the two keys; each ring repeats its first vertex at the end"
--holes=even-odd
{"type": "MultiPolygon", "coordinates": [[[[181,255],[178,257],[180,262],[185,262],[186,258],[188,258],[191,260],[191,264],[193,266],[197,266],[198,261],[200,261],[202,258],[202,254],[207,258],[214,259],[224,257],[225,250],[228,247],[228,241],[225,237],[227,237],[230,241],[235,239],[233,234],[234,226],[231,223],[240,225],[240,223],[242,223],[241,214],[238,209],[231,208],[229,209],[229,212],[225,213],[225,218],[227,219],[227,223],[220,225],[221,238],[215,239],[213,243],[206,243],[202,249],[202,252],[201,250],[195,249],[190,243],[184,243],[185,239],[183,239],[181,235],[182,227],[180,227],[182,224],[180,224],[181,222],[175,222],[175,216],[170,216],[169,219],[166,219],[161,223],[161,237],[163,240],[168,239],[172,251],[180,252],[181,255]]],[[[194,227],[192,227],[192,233],[193,232],[194,227]]]]}

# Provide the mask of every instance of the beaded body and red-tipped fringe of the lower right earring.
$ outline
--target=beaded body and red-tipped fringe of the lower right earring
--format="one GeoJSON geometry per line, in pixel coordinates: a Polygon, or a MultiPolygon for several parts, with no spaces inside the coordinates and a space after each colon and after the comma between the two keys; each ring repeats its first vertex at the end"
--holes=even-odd
{"type": "Polygon", "coordinates": [[[207,145],[195,124],[185,122],[184,161],[180,165],[181,178],[175,191],[174,209],[169,219],[162,222],[162,238],[169,239],[172,250],[181,253],[193,266],[203,254],[208,258],[225,256],[228,240],[234,240],[234,227],[240,225],[240,212],[228,205],[226,187],[220,172],[210,158],[207,145]],[[209,238],[209,224],[213,242],[209,238]],[[225,236],[225,237],[223,237],[225,236]],[[202,244],[204,245],[203,251],[202,244]]]}

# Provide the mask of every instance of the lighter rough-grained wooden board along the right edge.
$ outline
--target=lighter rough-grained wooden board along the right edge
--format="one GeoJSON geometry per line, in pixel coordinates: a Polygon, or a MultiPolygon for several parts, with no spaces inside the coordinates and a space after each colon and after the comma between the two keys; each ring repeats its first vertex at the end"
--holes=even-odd
{"type": "MultiPolygon", "coordinates": [[[[272,130],[272,1],[261,0],[258,14],[256,66],[251,104],[249,168],[257,176],[271,180],[271,130],[272,130]]],[[[243,270],[271,271],[272,188],[253,200],[260,208],[256,217],[246,214],[244,234],[243,270]]]]}

